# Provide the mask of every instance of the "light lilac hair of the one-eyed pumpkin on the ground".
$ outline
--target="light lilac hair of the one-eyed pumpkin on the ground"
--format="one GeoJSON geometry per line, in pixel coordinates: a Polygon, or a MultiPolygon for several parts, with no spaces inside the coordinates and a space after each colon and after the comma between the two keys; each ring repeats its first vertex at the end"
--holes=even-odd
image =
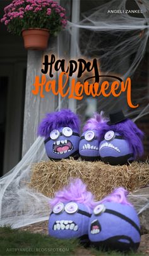
{"type": "Polygon", "coordinates": [[[124,187],[118,187],[117,189],[114,189],[114,191],[108,196],[106,196],[104,199],[98,201],[98,203],[114,202],[133,207],[133,205],[131,205],[131,203],[128,202],[126,196],[128,196],[128,191],[126,191],[124,187]]]}

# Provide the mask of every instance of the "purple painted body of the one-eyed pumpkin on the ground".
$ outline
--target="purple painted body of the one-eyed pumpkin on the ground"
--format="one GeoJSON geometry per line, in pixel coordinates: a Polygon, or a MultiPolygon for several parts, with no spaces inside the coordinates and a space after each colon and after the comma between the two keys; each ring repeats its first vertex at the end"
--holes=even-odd
{"type": "MultiPolygon", "coordinates": [[[[124,217],[128,217],[128,219],[133,220],[138,229],[140,229],[138,215],[132,206],[114,202],[105,202],[104,206],[106,210],[113,210],[114,212],[121,213],[124,217]]],[[[115,245],[113,244],[112,248],[114,248],[114,250],[119,250],[119,242],[121,243],[121,250],[123,248],[122,243],[124,243],[124,250],[125,245],[127,245],[128,249],[133,249],[133,247],[135,248],[133,245],[129,246],[129,238],[132,239],[134,244],[136,244],[136,247],[140,243],[140,232],[138,232],[131,223],[122,219],[121,215],[119,217],[106,212],[101,213],[101,215],[92,214],[92,217],[90,218],[90,225],[88,227],[88,236],[90,241],[96,242],[97,245],[102,242],[101,244],[104,246],[105,241],[105,247],[107,247],[107,239],[114,237],[118,238],[115,240],[115,245]]],[[[112,245],[109,243],[109,246],[112,245]]]]}

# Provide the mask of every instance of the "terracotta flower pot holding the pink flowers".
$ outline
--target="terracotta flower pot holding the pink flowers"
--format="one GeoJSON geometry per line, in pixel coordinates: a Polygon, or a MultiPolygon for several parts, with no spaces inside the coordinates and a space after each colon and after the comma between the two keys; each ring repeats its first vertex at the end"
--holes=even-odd
{"type": "Polygon", "coordinates": [[[45,50],[49,39],[47,29],[26,29],[22,31],[24,46],[30,50],[45,50]]]}

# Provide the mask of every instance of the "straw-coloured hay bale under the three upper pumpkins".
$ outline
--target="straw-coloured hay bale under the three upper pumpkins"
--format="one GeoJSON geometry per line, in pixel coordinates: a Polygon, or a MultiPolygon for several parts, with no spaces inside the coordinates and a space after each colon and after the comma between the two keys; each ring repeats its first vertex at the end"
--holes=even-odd
{"type": "Polygon", "coordinates": [[[30,187],[52,198],[54,192],[67,185],[70,178],[80,178],[96,199],[102,199],[116,187],[134,191],[149,184],[149,164],[111,166],[102,161],[88,162],[73,159],[43,161],[32,165],[30,187]]]}

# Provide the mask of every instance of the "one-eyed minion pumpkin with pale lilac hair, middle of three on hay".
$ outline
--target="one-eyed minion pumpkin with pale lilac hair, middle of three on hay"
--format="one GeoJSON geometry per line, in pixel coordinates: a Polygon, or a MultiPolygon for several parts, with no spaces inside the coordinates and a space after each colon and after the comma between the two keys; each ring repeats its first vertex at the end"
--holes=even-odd
{"type": "Polygon", "coordinates": [[[86,121],[79,144],[79,153],[81,159],[86,161],[95,161],[100,159],[99,130],[104,123],[106,123],[106,119],[103,118],[103,112],[100,114],[96,113],[93,118],[86,121]]]}

